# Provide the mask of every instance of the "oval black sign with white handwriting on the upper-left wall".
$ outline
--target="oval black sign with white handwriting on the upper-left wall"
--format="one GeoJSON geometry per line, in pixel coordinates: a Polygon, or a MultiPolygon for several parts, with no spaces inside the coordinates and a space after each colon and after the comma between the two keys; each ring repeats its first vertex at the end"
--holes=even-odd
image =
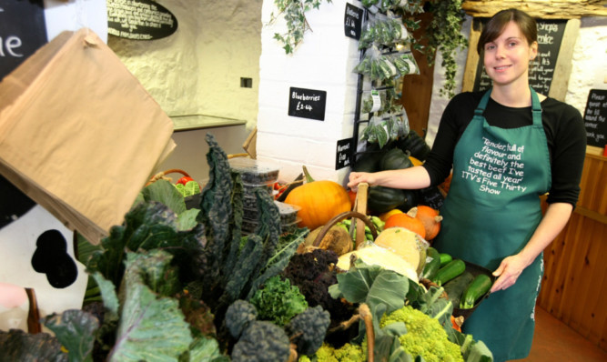
{"type": "Polygon", "coordinates": [[[177,18],[151,0],[107,0],[107,34],[154,40],[177,31],[177,18]]]}

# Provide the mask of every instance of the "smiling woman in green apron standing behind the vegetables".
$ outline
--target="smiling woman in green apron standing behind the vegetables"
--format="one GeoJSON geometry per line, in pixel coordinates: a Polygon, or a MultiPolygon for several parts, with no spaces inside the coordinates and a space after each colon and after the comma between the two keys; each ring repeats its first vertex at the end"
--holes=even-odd
{"type": "Polygon", "coordinates": [[[493,270],[491,296],[463,331],[482,340],[496,361],[529,354],[542,250],[566,225],[580,192],[586,136],[572,106],[537,95],[529,65],[538,55],[537,25],[516,9],[494,15],[477,48],[492,88],[451,99],[423,166],[349,176],[348,186],[417,189],[439,185],[453,170],[434,241],[493,270]],[[542,217],[541,195],[549,193],[542,217]]]}

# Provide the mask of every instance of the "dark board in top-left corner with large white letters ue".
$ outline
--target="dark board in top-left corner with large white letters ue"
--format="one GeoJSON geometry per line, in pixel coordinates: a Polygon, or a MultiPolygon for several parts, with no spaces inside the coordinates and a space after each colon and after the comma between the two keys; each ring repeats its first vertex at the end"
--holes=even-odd
{"type": "Polygon", "coordinates": [[[43,0],[0,0],[0,80],[46,42],[43,0]]]}

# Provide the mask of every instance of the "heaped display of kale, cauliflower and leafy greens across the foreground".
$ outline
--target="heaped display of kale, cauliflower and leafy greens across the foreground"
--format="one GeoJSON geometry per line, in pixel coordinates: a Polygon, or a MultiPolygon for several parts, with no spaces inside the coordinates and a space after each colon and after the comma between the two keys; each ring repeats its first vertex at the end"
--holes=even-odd
{"type": "MultiPolygon", "coordinates": [[[[310,230],[281,232],[273,197],[256,190],[259,223],[245,236],[241,174],[207,143],[199,208],[167,180],[146,186],[86,260],[101,300],[47,316],[54,336],[0,331],[0,360],[491,361],[454,329],[450,282],[420,284],[441,255],[417,233],[384,229],[341,256],[298,253],[310,230]]],[[[486,296],[478,283],[460,287],[462,301],[486,296]]]]}

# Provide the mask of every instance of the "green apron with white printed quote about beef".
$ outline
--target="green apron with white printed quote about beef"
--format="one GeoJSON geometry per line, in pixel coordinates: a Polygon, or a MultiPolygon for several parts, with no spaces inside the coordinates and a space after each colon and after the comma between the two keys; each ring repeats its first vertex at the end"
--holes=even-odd
{"type": "MultiPolygon", "coordinates": [[[[551,186],[541,105],[531,89],[532,126],[489,126],[482,116],[491,89],[455,146],[449,194],[434,246],[491,271],[527,244],[541,221],[540,197],[551,186]]],[[[482,340],[495,361],[527,357],[531,349],[543,258],[525,268],[517,282],[492,293],[463,324],[482,340]]]]}

